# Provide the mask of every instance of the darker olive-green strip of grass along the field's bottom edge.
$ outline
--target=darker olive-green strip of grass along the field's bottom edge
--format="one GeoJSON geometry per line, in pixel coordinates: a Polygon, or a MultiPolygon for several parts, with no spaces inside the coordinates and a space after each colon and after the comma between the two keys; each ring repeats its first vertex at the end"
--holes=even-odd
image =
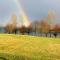
{"type": "Polygon", "coordinates": [[[0,60],[60,60],[60,56],[49,55],[49,54],[39,54],[31,57],[27,56],[18,56],[6,53],[0,53],[0,60]]]}

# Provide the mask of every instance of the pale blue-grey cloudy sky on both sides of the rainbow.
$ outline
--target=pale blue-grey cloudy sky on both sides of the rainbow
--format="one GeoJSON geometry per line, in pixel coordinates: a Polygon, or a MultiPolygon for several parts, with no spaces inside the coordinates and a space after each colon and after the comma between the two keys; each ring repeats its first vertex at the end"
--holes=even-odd
{"type": "MultiPolygon", "coordinates": [[[[20,5],[31,21],[46,18],[49,10],[60,16],[60,0],[20,0],[20,5]]],[[[9,22],[9,16],[13,12],[19,13],[14,0],[0,0],[0,25],[9,22]]],[[[57,22],[60,23],[60,19],[57,22]]]]}

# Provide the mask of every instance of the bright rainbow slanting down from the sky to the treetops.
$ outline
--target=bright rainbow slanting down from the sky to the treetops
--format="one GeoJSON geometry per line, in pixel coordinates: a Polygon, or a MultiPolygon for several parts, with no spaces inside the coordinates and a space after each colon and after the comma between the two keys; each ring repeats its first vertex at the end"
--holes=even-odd
{"type": "Polygon", "coordinates": [[[16,5],[17,5],[18,9],[19,9],[19,14],[21,14],[21,16],[22,16],[22,18],[23,18],[23,19],[22,19],[22,20],[23,20],[23,25],[24,25],[25,27],[28,27],[28,26],[30,25],[30,21],[29,21],[28,16],[27,16],[26,13],[24,12],[23,8],[21,7],[20,1],[19,1],[19,0],[14,0],[14,1],[15,1],[16,5]]]}

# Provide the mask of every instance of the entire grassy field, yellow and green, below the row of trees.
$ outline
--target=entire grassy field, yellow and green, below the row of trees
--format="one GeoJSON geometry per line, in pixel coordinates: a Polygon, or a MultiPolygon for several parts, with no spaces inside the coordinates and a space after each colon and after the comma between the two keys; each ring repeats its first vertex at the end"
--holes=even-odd
{"type": "Polygon", "coordinates": [[[60,60],[60,38],[0,34],[0,60],[60,60]]]}

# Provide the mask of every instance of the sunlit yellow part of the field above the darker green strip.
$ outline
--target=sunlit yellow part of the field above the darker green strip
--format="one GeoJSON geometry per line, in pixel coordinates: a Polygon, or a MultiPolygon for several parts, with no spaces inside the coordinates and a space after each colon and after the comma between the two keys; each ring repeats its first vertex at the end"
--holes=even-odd
{"type": "Polygon", "coordinates": [[[43,38],[27,35],[0,35],[0,52],[32,56],[47,51],[60,55],[60,38],[43,38]]]}

